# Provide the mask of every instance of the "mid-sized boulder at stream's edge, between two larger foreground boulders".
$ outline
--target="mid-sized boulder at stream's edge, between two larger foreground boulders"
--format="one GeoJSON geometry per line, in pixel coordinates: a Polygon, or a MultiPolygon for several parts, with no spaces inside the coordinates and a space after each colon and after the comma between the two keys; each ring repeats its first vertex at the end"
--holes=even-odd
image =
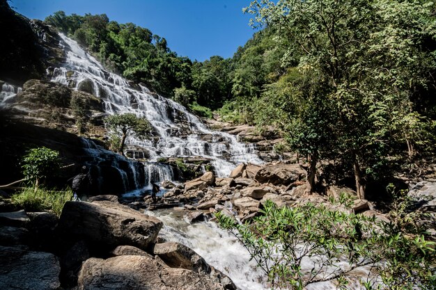
{"type": "Polygon", "coordinates": [[[153,253],[171,268],[184,268],[203,274],[209,274],[211,270],[203,257],[181,243],[157,243],[153,253]]]}

